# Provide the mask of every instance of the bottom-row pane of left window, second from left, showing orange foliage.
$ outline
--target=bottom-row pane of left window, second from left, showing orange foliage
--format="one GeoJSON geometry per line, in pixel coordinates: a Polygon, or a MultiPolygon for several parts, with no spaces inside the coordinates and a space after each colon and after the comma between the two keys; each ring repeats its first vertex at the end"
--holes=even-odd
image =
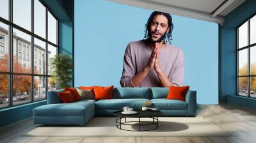
{"type": "Polygon", "coordinates": [[[31,76],[13,75],[13,105],[31,102],[31,76]]]}

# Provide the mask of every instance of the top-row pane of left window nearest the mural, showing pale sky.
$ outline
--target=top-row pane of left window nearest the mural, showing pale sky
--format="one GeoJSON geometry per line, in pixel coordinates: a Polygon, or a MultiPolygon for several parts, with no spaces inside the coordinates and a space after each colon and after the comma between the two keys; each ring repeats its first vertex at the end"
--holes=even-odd
{"type": "Polygon", "coordinates": [[[57,20],[48,11],[48,41],[57,45],[57,20]]]}

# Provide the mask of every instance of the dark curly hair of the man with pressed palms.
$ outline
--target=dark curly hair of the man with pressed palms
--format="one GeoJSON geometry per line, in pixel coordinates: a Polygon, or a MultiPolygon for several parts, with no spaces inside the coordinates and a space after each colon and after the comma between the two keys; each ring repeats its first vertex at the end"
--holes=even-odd
{"type": "Polygon", "coordinates": [[[161,11],[154,11],[151,13],[150,17],[148,18],[147,24],[145,24],[145,34],[143,39],[149,38],[150,33],[148,31],[150,30],[150,23],[152,22],[154,17],[156,17],[157,15],[164,15],[166,19],[168,19],[168,27],[170,27],[170,30],[168,31],[168,33],[166,33],[166,37],[164,37],[164,42],[166,43],[166,39],[167,39],[171,44],[170,41],[172,40],[172,31],[173,31],[172,16],[169,13],[164,13],[161,11]]]}

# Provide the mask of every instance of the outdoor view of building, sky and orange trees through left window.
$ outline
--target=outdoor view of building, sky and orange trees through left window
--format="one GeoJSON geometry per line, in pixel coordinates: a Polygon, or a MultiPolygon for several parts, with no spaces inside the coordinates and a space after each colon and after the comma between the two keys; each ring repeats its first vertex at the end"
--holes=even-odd
{"type": "Polygon", "coordinates": [[[45,67],[51,66],[51,58],[58,54],[52,52],[58,51],[58,20],[42,1],[32,1],[13,1],[13,11],[9,1],[3,1],[13,15],[10,21],[0,13],[0,109],[45,100],[47,91],[56,89],[45,67]]]}

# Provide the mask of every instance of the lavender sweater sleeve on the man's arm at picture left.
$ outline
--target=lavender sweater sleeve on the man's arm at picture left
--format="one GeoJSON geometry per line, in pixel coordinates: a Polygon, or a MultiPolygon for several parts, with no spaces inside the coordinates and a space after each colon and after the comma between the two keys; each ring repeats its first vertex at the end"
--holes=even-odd
{"type": "Polygon", "coordinates": [[[131,46],[130,44],[127,45],[125,54],[124,54],[124,68],[122,77],[120,79],[120,84],[122,87],[134,87],[131,78],[135,75],[135,64],[134,61],[132,61],[131,56],[131,46]]]}

